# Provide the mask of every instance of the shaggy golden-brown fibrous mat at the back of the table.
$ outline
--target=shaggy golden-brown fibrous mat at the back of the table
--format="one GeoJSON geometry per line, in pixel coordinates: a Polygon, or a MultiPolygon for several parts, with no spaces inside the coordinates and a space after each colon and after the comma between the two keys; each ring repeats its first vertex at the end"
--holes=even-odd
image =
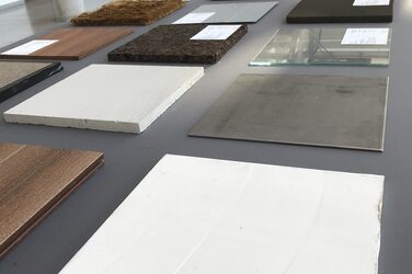
{"type": "Polygon", "coordinates": [[[148,25],[184,5],[182,0],[115,1],[71,19],[75,25],[148,25]]]}

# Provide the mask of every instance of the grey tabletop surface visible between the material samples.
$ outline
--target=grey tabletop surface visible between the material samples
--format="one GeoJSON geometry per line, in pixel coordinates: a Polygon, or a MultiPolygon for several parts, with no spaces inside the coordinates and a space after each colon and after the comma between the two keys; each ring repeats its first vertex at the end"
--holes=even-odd
{"type": "MultiPolygon", "coordinates": [[[[248,67],[275,30],[286,25],[286,15],[297,2],[281,0],[260,22],[251,24],[240,43],[221,61],[208,67],[206,76],[141,135],[12,125],[1,119],[0,141],[100,150],[105,153],[105,164],[0,261],[0,273],[57,273],[164,153],[382,174],[386,182],[379,273],[412,273],[412,214],[409,213],[412,208],[412,0],[396,1],[392,24],[347,25],[390,25],[393,28],[391,64],[388,68],[248,67]],[[244,72],[389,76],[385,152],[187,137],[192,126],[236,77],[244,72]]],[[[110,50],[158,24],[175,21],[201,3],[210,1],[192,0],[176,13],[150,26],[135,27],[131,36],[88,58],[64,61],[62,72],[1,103],[0,112],[89,64],[106,62],[110,50]]],[[[289,25],[298,26],[301,25],[289,25]]]]}

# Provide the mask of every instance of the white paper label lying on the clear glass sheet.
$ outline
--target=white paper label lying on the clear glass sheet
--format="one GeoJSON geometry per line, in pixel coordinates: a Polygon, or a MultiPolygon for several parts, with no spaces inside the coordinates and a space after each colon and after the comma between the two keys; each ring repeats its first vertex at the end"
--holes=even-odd
{"type": "Polygon", "coordinates": [[[342,45],[387,45],[389,28],[347,28],[342,45]]]}

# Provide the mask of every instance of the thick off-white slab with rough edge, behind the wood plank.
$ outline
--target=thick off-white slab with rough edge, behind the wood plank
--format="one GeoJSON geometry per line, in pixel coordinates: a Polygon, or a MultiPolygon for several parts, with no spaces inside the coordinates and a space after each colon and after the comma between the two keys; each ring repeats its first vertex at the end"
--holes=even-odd
{"type": "Polygon", "coordinates": [[[141,133],[203,67],[91,65],[4,113],[9,123],[141,133]]]}

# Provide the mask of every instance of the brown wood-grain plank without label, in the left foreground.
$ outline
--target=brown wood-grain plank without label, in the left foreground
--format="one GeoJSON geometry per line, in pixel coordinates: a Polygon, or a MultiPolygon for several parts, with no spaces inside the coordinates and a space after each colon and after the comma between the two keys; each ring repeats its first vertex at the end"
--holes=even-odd
{"type": "Polygon", "coordinates": [[[0,144],[0,255],[103,163],[103,153],[0,144]]]}

